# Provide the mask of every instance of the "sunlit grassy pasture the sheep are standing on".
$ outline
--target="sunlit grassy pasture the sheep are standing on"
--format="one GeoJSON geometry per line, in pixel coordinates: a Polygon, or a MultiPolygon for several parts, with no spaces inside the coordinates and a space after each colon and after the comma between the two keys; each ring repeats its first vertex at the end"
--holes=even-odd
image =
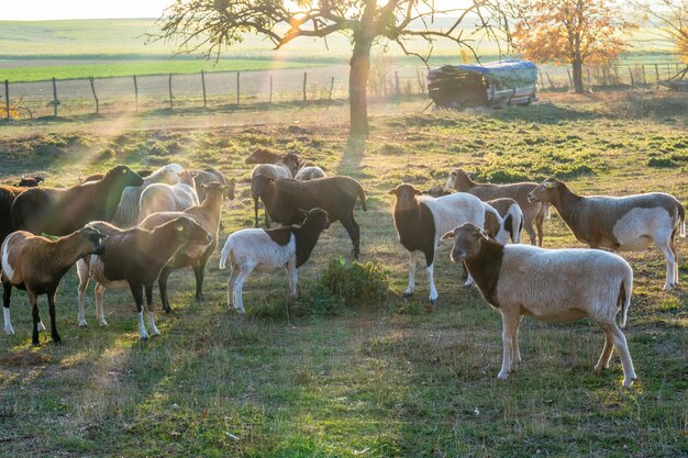
{"type": "MultiPolygon", "coordinates": [[[[1,127],[7,182],[37,171],[46,175],[46,186],[67,186],[115,164],[170,161],[215,166],[237,177],[222,242],[252,225],[251,170],[243,158],[257,145],[296,152],[331,175],[363,182],[368,211],[356,211],[362,261],[380,264],[390,290],[384,300],[311,301],[330,260],[351,249],[335,224],[300,269],[301,299],[290,319],[281,275],[252,276],[246,316],[228,310],[228,272],[218,269],[217,254],[203,303],[192,299],[190,271],[173,273],[177,313],[158,316],[162,336],[147,343],[138,340],[126,292],[106,293],[109,327],[99,328],[89,288],[89,326],[77,327],[70,271],[57,302],[64,345],[55,347],[44,335],[43,346],[32,349],[27,301],[15,291],[16,335],[0,336],[0,455],[688,456],[685,239],[678,241],[684,286],[672,292],[662,291],[664,261],[656,249],[626,256],[635,271],[626,329],[640,377],[633,390],[620,386],[618,357],[606,373],[593,372],[603,336],[589,321],[551,325],[526,319],[524,361],[508,382],[498,381],[499,314],[477,290],[459,286],[446,253],[435,269],[440,300],[433,313],[424,313],[424,276],[414,298],[400,297],[407,255],[387,191],[402,181],[430,187],[462,166],[488,179],[555,175],[581,193],[665,191],[688,201],[685,96],[542,99],[497,111],[420,114],[421,101],[373,110],[378,114],[365,145],[346,142],[345,110],[189,112],[1,127]]],[[[580,244],[554,213],[545,246],[580,244]]]]}

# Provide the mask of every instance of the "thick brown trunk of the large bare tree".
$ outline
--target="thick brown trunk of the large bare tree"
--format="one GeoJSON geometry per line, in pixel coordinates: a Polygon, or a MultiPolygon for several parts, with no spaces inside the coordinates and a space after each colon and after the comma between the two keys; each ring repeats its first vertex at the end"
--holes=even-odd
{"type": "Polygon", "coordinates": [[[348,74],[348,104],[352,137],[368,136],[368,74],[370,72],[370,47],[373,42],[357,37],[348,74]]]}

